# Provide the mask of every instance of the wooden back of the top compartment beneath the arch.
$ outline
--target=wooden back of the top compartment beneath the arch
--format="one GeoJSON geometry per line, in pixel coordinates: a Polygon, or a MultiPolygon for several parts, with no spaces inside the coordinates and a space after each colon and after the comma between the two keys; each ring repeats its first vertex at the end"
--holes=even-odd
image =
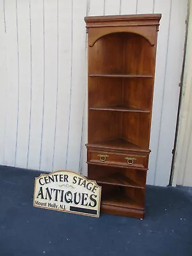
{"type": "Polygon", "coordinates": [[[155,47],[143,36],[113,33],[89,47],[89,74],[154,75],[155,47]]]}

